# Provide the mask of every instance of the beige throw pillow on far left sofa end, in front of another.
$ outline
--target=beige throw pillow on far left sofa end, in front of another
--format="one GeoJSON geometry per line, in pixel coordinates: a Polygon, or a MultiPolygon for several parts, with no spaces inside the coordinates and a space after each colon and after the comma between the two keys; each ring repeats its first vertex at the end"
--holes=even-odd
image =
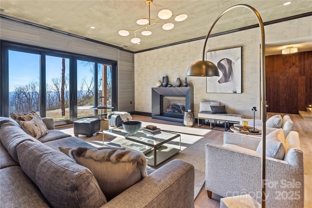
{"type": "Polygon", "coordinates": [[[35,139],[39,139],[48,133],[46,126],[41,119],[33,117],[30,121],[20,121],[20,127],[24,132],[31,135],[35,139]]]}

